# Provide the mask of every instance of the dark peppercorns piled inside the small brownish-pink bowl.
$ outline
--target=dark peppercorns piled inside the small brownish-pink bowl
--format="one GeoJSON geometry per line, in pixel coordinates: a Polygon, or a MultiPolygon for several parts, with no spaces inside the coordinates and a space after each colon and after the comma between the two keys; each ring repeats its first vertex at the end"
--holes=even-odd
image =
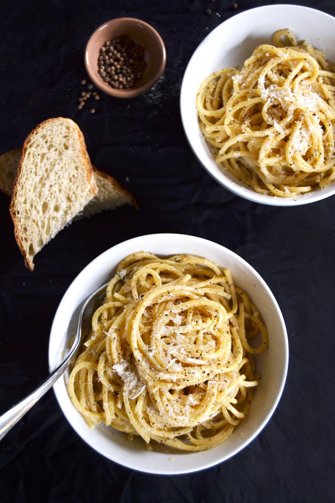
{"type": "MultiPolygon", "coordinates": [[[[98,56],[98,74],[114,89],[130,89],[145,70],[145,48],[128,35],[107,40],[98,56]]],[[[98,99],[98,98],[97,98],[98,99]]]]}

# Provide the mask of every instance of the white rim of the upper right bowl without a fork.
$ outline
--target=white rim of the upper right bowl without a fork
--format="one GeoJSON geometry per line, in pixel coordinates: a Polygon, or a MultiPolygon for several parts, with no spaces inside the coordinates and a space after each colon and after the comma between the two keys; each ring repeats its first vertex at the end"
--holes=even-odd
{"type": "MultiPolygon", "coordinates": [[[[198,162],[202,165],[202,167],[206,170],[206,172],[221,186],[225,187],[227,190],[232,192],[233,194],[236,194],[237,196],[240,196],[244,199],[247,199],[252,202],[260,203],[260,204],[265,204],[268,206],[283,206],[283,207],[288,207],[288,206],[300,206],[303,204],[308,204],[308,203],[314,203],[316,201],[320,201],[322,199],[325,199],[327,197],[330,197],[335,194],[335,182],[332,183],[332,190],[327,190],[327,187],[321,188],[321,189],[316,189],[314,191],[301,194],[296,197],[290,197],[290,198],[284,198],[284,197],[276,197],[276,196],[267,196],[267,195],[262,195],[258,194],[256,191],[253,191],[252,189],[248,188],[246,185],[241,185],[238,183],[239,181],[235,182],[234,180],[231,180],[228,178],[224,173],[219,171],[218,166],[217,170],[214,170],[214,165],[207,165],[206,161],[202,161],[202,159],[199,158],[196,147],[193,145],[194,141],[192,140],[191,134],[189,134],[188,127],[186,125],[186,116],[189,115],[189,111],[185,110],[184,106],[184,96],[187,95],[186,91],[186,80],[188,76],[188,71],[189,68],[192,65],[193,59],[196,57],[196,53],[198,50],[201,50],[203,45],[205,45],[207,39],[215,32],[216,30],[221,30],[223,26],[229,27],[230,24],[235,23],[239,19],[242,18],[248,18],[248,16],[252,13],[256,12],[265,12],[265,11],[274,11],[274,14],[278,10],[285,10],[285,11],[301,11],[302,17],[303,13],[308,12],[309,14],[315,16],[318,15],[322,18],[328,18],[331,20],[332,23],[335,23],[335,18],[331,16],[330,14],[327,14],[325,12],[322,12],[318,9],[314,9],[312,7],[306,7],[306,6],[299,6],[295,4],[273,4],[273,5],[265,5],[265,6],[260,6],[260,7],[254,7],[252,9],[248,9],[246,11],[240,12],[238,14],[235,14],[234,16],[230,17],[226,21],[223,21],[219,25],[217,25],[213,30],[211,30],[198,44],[196,49],[193,51],[192,56],[189,59],[189,62],[185,68],[182,83],[181,83],[181,89],[180,89],[180,115],[181,115],[181,121],[184,129],[184,133],[186,136],[186,139],[188,141],[189,146],[191,147],[191,150],[193,151],[193,154],[197,158],[198,162]]],[[[289,18],[289,12],[287,12],[287,18],[289,18]]],[[[256,28],[255,28],[256,29],[256,28]]],[[[200,83],[199,83],[200,85],[200,83]]],[[[194,98],[195,102],[195,98],[194,98]]],[[[194,104],[194,117],[197,120],[197,114],[196,114],[196,107],[194,104]]],[[[198,140],[200,141],[200,139],[198,140]]],[[[203,139],[203,141],[205,141],[203,139]]],[[[210,159],[210,152],[207,152],[207,155],[210,159]]]]}

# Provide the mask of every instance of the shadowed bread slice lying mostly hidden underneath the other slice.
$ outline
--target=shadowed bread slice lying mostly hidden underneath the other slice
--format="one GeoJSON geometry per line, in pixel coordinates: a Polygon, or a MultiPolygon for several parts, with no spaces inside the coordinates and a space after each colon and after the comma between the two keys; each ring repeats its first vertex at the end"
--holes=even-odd
{"type": "MultiPolygon", "coordinates": [[[[22,148],[16,148],[0,155],[0,189],[9,197],[12,197],[13,194],[13,186],[18,173],[21,154],[22,148]]],[[[131,204],[135,208],[138,207],[132,194],[123,188],[115,178],[103,171],[99,171],[94,165],[92,167],[98,193],[74,217],[74,220],[89,217],[103,210],[114,210],[124,204],[131,204]]]]}

